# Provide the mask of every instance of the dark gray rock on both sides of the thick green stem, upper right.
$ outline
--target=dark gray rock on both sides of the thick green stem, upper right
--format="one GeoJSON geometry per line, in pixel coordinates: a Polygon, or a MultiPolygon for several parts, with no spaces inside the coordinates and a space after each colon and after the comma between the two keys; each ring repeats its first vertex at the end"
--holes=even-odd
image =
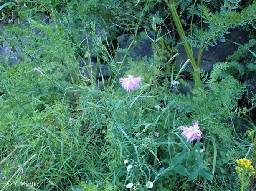
{"type": "MultiPolygon", "coordinates": [[[[226,34],[225,38],[237,42],[241,45],[248,42],[246,31],[233,30],[230,32],[230,34],[226,34]]],[[[214,63],[225,61],[226,57],[228,57],[228,55],[233,53],[236,49],[237,45],[235,45],[233,42],[224,39],[220,40],[215,47],[209,46],[208,51],[203,51],[201,68],[203,68],[206,72],[209,72],[214,63]]],[[[198,48],[193,48],[193,54],[196,61],[198,57],[198,50],[198,48]]],[[[180,45],[178,52],[180,54],[176,57],[176,66],[180,67],[181,62],[184,63],[188,59],[188,56],[183,45],[180,45]]],[[[190,66],[190,68],[192,68],[192,66],[190,66]]]]}

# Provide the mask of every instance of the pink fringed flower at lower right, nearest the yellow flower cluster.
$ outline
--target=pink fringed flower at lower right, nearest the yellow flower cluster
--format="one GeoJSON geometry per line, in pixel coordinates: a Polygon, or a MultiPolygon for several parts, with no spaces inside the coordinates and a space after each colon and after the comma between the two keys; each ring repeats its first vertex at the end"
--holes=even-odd
{"type": "Polygon", "coordinates": [[[198,121],[193,121],[193,127],[188,127],[186,125],[183,125],[181,127],[181,130],[183,131],[181,134],[182,136],[187,139],[187,141],[194,141],[198,140],[202,137],[202,132],[200,131],[200,127],[198,126],[198,121]]]}

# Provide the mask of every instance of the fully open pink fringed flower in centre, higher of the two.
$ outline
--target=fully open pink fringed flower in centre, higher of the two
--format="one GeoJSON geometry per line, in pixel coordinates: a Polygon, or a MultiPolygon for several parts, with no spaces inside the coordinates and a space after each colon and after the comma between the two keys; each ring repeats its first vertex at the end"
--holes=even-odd
{"type": "Polygon", "coordinates": [[[141,77],[134,78],[132,75],[128,75],[128,78],[120,78],[119,82],[125,91],[134,91],[140,87],[141,77]]]}

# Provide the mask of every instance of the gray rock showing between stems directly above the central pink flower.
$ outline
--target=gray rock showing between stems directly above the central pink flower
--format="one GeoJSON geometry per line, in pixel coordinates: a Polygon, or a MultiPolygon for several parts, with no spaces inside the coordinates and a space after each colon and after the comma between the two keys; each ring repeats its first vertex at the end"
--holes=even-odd
{"type": "MultiPolygon", "coordinates": [[[[119,45],[119,48],[121,49],[127,49],[132,42],[132,40],[129,40],[129,35],[128,34],[123,34],[119,37],[117,37],[117,42],[119,45]]],[[[129,53],[127,56],[132,56],[132,57],[151,57],[153,53],[153,50],[151,48],[151,41],[148,38],[145,39],[138,39],[132,44],[132,47],[130,48],[129,53]]],[[[117,53],[116,55],[116,60],[117,61],[122,61],[122,58],[124,57],[124,53],[117,53]]]]}

